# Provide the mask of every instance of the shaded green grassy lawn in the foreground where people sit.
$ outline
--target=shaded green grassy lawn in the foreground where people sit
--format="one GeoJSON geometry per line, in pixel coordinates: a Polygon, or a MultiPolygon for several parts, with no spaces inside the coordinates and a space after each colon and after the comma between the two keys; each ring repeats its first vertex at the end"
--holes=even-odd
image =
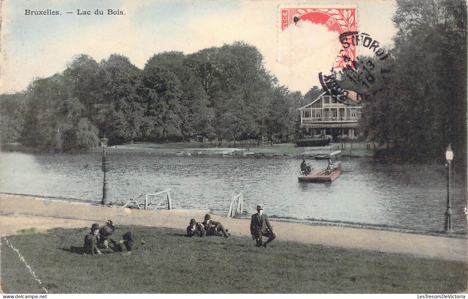
{"type": "MultiPolygon", "coordinates": [[[[128,230],[146,241],[131,255],[75,252],[88,228],[8,240],[50,293],[453,293],[466,288],[466,263],[280,240],[264,249],[247,238],[187,238],[182,230],[166,228],[119,226],[117,235],[128,230]]],[[[1,280],[5,293],[42,291],[5,242],[1,280]]]]}

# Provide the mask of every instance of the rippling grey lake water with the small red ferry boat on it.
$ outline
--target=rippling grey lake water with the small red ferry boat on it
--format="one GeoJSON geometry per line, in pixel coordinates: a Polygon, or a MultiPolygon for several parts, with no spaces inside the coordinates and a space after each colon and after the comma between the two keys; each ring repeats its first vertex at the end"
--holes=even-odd
{"type": "MultiPolygon", "coordinates": [[[[333,183],[299,183],[294,157],[176,156],[142,150],[113,151],[110,197],[124,204],[142,193],[172,189],[174,208],[224,210],[242,192],[244,207],[299,219],[351,221],[415,230],[443,230],[446,170],[443,166],[388,165],[344,158],[333,183]]],[[[1,192],[101,202],[100,152],[80,154],[2,152],[1,192]]],[[[311,160],[325,168],[326,160],[311,160]]],[[[162,199],[162,198],[161,198],[162,199]]],[[[453,223],[466,230],[467,186],[452,180],[453,223]]]]}

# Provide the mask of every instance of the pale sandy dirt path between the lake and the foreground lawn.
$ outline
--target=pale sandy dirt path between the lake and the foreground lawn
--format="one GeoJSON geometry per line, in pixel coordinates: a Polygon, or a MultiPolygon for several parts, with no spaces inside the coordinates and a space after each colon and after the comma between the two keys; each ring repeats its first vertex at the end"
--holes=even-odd
{"type": "MultiPolygon", "coordinates": [[[[111,219],[116,224],[185,229],[190,218],[202,221],[206,212],[185,210],[143,211],[50,199],[0,196],[0,234],[14,235],[23,228],[82,228],[111,219]]],[[[212,215],[232,235],[250,236],[250,221],[212,215]]],[[[425,258],[467,261],[467,240],[375,229],[313,226],[271,221],[278,240],[322,244],[348,249],[398,253],[425,258]]]]}

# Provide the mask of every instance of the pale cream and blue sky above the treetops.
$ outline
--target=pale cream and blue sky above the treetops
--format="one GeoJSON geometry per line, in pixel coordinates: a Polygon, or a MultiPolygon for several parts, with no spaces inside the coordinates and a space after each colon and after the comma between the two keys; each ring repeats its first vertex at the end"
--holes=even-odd
{"type": "MultiPolygon", "coordinates": [[[[27,88],[34,78],[65,70],[76,55],[101,61],[122,54],[144,68],[155,53],[190,54],[244,41],[257,47],[264,66],[280,85],[303,94],[330,70],[337,36],[320,25],[279,30],[278,7],[356,7],[358,31],[391,45],[396,29],[393,0],[3,0],[1,6],[0,92],[27,88]],[[283,3],[288,3],[287,6],[283,3]],[[27,15],[30,11],[59,15],[27,15]],[[79,15],[77,10],[90,11],[79,15]],[[95,10],[103,14],[94,14],[95,10]],[[107,10],[123,14],[107,14],[107,10]],[[73,14],[66,14],[72,12],[73,14]],[[278,59],[279,58],[279,59],[278,59]]],[[[338,47],[339,49],[339,47],[338,47]]],[[[358,49],[361,54],[366,49],[358,49]]]]}

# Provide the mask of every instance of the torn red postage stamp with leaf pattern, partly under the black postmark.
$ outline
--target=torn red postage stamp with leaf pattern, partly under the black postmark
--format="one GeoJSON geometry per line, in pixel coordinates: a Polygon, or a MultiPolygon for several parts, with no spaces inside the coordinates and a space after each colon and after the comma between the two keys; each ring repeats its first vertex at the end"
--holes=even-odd
{"type": "MultiPolygon", "coordinates": [[[[284,31],[289,26],[294,26],[299,21],[310,21],[315,24],[322,24],[329,31],[336,32],[341,35],[344,32],[358,30],[356,20],[356,8],[281,8],[280,11],[280,26],[281,31],[284,31]]],[[[356,46],[352,45],[340,50],[339,55],[333,64],[334,69],[344,68],[344,57],[350,57],[351,60],[356,57],[356,46]]]]}

